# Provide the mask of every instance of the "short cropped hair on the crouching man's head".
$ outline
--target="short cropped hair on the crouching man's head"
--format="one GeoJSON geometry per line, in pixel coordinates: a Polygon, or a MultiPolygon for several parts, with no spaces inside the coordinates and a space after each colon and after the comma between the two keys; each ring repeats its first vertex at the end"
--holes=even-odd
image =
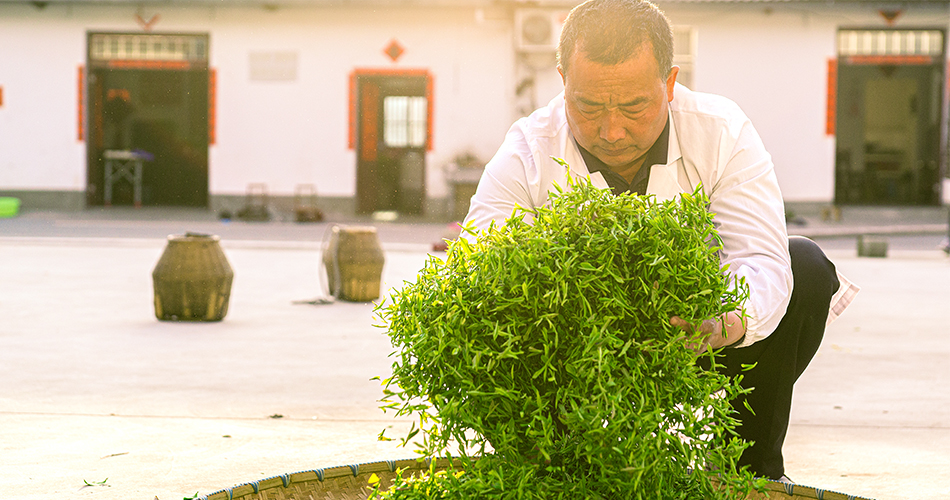
{"type": "Polygon", "coordinates": [[[673,28],[659,7],[647,0],[587,0],[564,21],[558,65],[566,74],[578,45],[591,61],[620,64],[647,41],[653,45],[660,76],[666,77],[673,68],[673,28]]]}

